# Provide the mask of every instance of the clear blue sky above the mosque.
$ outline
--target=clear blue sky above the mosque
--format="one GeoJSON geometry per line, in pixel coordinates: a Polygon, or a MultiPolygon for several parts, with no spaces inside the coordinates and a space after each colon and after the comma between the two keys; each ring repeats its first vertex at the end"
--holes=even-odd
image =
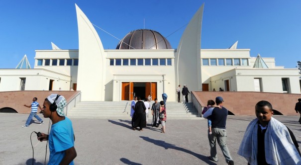
{"type": "MultiPolygon", "coordinates": [[[[33,68],[35,50],[52,49],[50,42],[78,49],[75,3],[119,39],[145,26],[170,35],[175,49],[181,27],[204,3],[202,49],[229,48],[238,40],[238,49],[274,57],[277,66],[296,68],[301,61],[301,0],[2,0],[0,69],[15,68],[24,54],[33,68]]],[[[95,28],[104,49],[115,49],[119,41],[95,28]]]]}

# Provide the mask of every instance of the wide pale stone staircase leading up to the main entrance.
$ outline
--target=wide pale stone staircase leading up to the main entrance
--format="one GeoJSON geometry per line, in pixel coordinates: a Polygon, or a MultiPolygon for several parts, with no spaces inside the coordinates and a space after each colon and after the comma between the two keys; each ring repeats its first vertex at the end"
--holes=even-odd
{"type": "MultiPolygon", "coordinates": [[[[69,118],[129,119],[131,101],[82,101],[68,110],[69,118]]],[[[154,101],[149,102],[150,105],[154,101]]],[[[192,103],[167,102],[167,119],[202,119],[192,103]]],[[[152,119],[149,110],[149,120],[152,119]]]]}

